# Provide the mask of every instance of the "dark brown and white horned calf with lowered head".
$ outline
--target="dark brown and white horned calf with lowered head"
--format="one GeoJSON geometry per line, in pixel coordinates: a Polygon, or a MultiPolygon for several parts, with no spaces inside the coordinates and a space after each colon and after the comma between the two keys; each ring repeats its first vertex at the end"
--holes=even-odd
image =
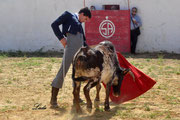
{"type": "Polygon", "coordinates": [[[113,95],[119,96],[123,77],[128,72],[130,72],[129,69],[120,67],[116,50],[111,42],[103,41],[93,48],[88,46],[80,48],[73,59],[72,73],[76,111],[81,112],[79,92],[82,81],[87,81],[87,85],[83,89],[87,108],[92,108],[92,102],[89,96],[90,89],[96,86],[97,94],[95,100],[99,101],[100,83],[103,82],[106,85],[104,110],[107,111],[110,109],[109,93],[111,86],[113,88],[113,95]]]}

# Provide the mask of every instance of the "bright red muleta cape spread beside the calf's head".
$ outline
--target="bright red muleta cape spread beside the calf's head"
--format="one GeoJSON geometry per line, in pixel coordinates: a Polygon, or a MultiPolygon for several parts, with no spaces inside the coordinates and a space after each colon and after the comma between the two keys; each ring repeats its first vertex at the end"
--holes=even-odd
{"type": "MultiPolygon", "coordinates": [[[[154,81],[149,76],[138,70],[133,65],[131,65],[119,52],[117,52],[117,56],[120,66],[123,68],[130,68],[135,76],[135,81],[134,81],[130,74],[125,75],[120,88],[121,94],[119,97],[113,96],[112,94],[113,89],[111,88],[111,92],[110,92],[111,101],[116,104],[120,104],[142,95],[143,93],[151,89],[154,86],[154,84],[156,84],[156,81],[154,81]]],[[[104,85],[104,87],[106,86],[104,85]]]]}

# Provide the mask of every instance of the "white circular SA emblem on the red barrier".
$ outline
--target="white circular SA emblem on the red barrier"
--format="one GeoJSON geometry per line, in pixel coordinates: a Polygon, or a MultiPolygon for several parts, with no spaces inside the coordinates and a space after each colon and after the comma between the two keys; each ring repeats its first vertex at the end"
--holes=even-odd
{"type": "Polygon", "coordinates": [[[110,38],[115,33],[115,25],[112,21],[108,20],[108,16],[99,25],[99,32],[105,38],[110,38]]]}

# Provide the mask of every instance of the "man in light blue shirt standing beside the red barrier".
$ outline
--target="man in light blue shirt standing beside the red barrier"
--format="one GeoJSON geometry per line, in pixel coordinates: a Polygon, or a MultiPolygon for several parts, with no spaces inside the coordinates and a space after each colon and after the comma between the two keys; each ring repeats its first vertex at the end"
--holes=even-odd
{"type": "Polygon", "coordinates": [[[140,35],[140,27],[142,22],[140,17],[137,15],[138,9],[133,7],[131,9],[131,53],[136,54],[136,44],[138,41],[138,36],[140,35]]]}

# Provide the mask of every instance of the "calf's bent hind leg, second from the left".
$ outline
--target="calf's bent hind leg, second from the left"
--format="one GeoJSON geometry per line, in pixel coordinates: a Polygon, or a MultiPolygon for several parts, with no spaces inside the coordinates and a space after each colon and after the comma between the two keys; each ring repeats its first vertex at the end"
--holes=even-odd
{"type": "Polygon", "coordinates": [[[92,87],[96,86],[98,82],[94,82],[93,80],[89,80],[89,82],[87,83],[87,85],[84,87],[84,95],[86,97],[86,101],[87,101],[87,108],[92,108],[92,102],[91,102],[91,98],[89,96],[89,91],[92,87]]]}

